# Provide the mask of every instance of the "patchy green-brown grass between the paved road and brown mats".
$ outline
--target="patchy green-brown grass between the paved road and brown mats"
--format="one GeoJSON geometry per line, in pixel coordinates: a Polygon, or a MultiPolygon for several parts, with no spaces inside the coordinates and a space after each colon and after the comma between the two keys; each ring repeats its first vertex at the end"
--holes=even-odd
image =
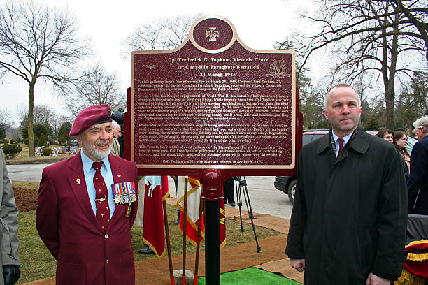
{"type": "MultiPolygon", "coordinates": [[[[17,182],[13,182],[14,185],[17,182]]],[[[38,182],[36,183],[38,189],[38,182]]],[[[31,184],[29,184],[31,186],[31,184]]],[[[167,205],[169,233],[171,237],[171,251],[173,255],[182,254],[183,236],[178,230],[178,226],[173,225],[176,221],[176,207],[167,205]]],[[[21,277],[20,283],[30,282],[37,279],[43,279],[50,276],[55,276],[57,262],[52,257],[45,244],[41,241],[36,230],[36,211],[22,212],[18,216],[20,223],[19,239],[20,239],[20,259],[21,259],[21,277]]],[[[244,224],[244,232],[240,231],[238,221],[227,219],[226,221],[226,246],[241,244],[254,240],[252,227],[249,224],[244,224]]],[[[263,227],[256,226],[257,238],[266,238],[271,235],[280,235],[280,233],[269,230],[263,227]]],[[[141,227],[134,226],[132,233],[132,248],[134,249],[135,261],[141,261],[148,258],[156,258],[154,255],[138,254],[138,249],[145,247],[143,243],[143,232],[141,227]]],[[[187,252],[194,252],[196,247],[187,244],[187,252]]],[[[202,243],[201,250],[204,250],[202,243]]]]}

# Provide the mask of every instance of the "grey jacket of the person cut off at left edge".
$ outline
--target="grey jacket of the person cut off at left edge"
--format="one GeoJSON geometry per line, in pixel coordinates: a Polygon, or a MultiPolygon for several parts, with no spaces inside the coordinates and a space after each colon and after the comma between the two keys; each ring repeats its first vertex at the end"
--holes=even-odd
{"type": "Polygon", "coordinates": [[[15,205],[3,149],[0,147],[0,285],[3,285],[3,265],[20,265],[18,254],[18,209],[15,205]]]}

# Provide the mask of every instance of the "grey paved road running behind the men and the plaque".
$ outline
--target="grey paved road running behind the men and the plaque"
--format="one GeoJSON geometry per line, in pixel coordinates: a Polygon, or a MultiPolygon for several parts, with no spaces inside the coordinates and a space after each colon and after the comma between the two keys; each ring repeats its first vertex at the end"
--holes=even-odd
{"type": "MultiPolygon", "coordinates": [[[[36,181],[41,180],[41,172],[48,164],[22,164],[8,165],[9,177],[11,180],[36,181]]],[[[248,195],[252,211],[260,214],[271,214],[275,217],[290,219],[292,203],[285,193],[273,187],[273,176],[247,176],[248,195]]],[[[169,179],[169,189],[171,196],[175,196],[173,180],[169,179]]],[[[236,191],[236,190],[235,190],[236,191]]],[[[236,200],[236,193],[235,193],[236,200]]],[[[243,199],[243,206],[245,200],[243,199]]],[[[238,207],[236,205],[236,207],[238,207]]]]}

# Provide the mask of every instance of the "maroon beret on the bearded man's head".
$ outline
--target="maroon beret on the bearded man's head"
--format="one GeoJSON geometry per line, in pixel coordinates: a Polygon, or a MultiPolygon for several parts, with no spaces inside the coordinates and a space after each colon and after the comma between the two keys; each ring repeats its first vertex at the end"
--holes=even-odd
{"type": "Polygon", "coordinates": [[[111,108],[108,105],[92,105],[76,117],[71,126],[70,136],[76,136],[93,124],[111,122],[111,108]]]}

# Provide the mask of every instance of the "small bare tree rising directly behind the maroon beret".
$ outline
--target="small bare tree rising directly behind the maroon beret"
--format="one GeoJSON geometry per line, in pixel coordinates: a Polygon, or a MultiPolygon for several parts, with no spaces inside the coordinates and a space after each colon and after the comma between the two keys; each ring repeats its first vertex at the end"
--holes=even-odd
{"type": "Polygon", "coordinates": [[[107,73],[100,64],[87,68],[74,82],[73,91],[64,98],[66,112],[73,117],[90,105],[106,104],[112,110],[124,110],[127,105],[116,73],[107,73]]]}

